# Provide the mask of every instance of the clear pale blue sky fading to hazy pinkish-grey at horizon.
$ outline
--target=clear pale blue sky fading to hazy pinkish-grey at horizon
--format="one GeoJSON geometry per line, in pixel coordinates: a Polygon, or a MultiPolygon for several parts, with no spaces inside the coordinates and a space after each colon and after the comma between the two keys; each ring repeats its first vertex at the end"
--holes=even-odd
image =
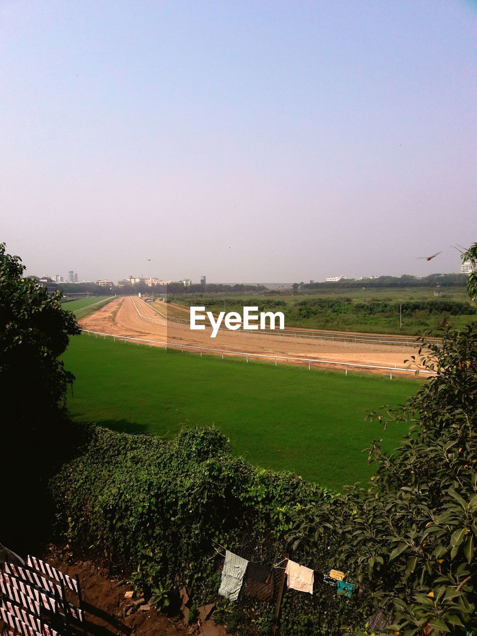
{"type": "Polygon", "coordinates": [[[2,0],[0,240],[80,279],[458,271],[476,36],[464,0],[2,0]]]}

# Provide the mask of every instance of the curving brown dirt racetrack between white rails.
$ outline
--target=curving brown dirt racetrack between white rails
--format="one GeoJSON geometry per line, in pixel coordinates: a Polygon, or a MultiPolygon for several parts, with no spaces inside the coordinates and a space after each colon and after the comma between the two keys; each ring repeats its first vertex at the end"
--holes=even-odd
{"type": "MultiPolygon", "coordinates": [[[[167,311],[167,305],[162,303],[161,311],[167,311]]],[[[392,367],[392,373],[399,373],[394,368],[405,368],[404,359],[415,354],[416,350],[402,345],[389,345],[364,342],[338,342],[321,338],[282,337],[270,332],[270,335],[252,334],[245,331],[219,331],[216,338],[211,338],[211,330],[191,331],[188,325],[177,324],[162,318],[152,307],[132,296],[116,298],[105,307],[79,320],[80,326],[89,331],[96,331],[107,335],[141,338],[141,340],[155,340],[158,343],[147,343],[152,346],[168,347],[187,350],[191,352],[208,352],[207,349],[224,350],[223,354],[233,355],[233,352],[242,354],[265,354],[268,360],[275,363],[289,362],[296,364],[308,364],[308,362],[287,360],[291,358],[307,358],[312,360],[313,366],[328,366],[329,368],[343,369],[345,364],[364,364],[392,367]],[[272,335],[273,334],[273,335],[272,335]],[[281,359],[280,359],[281,358],[281,359]],[[284,358],[284,359],[283,359],[284,358]],[[316,361],[314,363],[313,361],[316,361]],[[326,364],[318,361],[342,363],[340,365],[326,364]]],[[[257,358],[266,360],[267,358],[257,358]]],[[[373,371],[389,375],[389,370],[372,370],[370,368],[349,367],[350,370],[373,371]]],[[[400,375],[414,377],[412,373],[400,372],[400,375]]]]}

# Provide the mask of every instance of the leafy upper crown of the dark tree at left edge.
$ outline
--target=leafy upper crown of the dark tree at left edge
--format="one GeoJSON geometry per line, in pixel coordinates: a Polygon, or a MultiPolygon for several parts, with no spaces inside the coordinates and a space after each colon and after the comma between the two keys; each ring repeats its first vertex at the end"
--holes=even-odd
{"type": "MultiPolygon", "coordinates": [[[[14,420],[38,420],[64,404],[73,374],[59,356],[81,329],[60,305],[62,292],[48,294],[22,278],[25,266],[0,244],[0,382],[14,420]]],[[[11,422],[10,422],[11,424],[11,422]]]]}

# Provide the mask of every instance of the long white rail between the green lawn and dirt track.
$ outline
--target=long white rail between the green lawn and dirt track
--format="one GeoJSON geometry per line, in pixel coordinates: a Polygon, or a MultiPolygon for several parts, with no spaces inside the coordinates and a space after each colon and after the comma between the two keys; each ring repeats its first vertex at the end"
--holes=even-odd
{"type": "Polygon", "coordinates": [[[308,370],[310,370],[311,364],[331,364],[332,366],[344,367],[346,375],[348,375],[348,368],[350,367],[358,368],[358,369],[377,369],[381,371],[389,371],[389,377],[391,378],[391,380],[392,380],[392,371],[394,372],[400,371],[403,373],[413,373],[413,374],[416,374],[417,372],[417,373],[424,373],[425,375],[436,375],[436,371],[420,371],[420,370],[415,370],[410,368],[401,368],[399,366],[380,366],[378,364],[361,364],[361,363],[354,363],[354,362],[343,362],[343,361],[337,361],[337,360],[321,360],[317,358],[305,358],[305,357],[294,357],[294,356],[273,356],[270,354],[250,354],[245,351],[214,349],[212,347],[202,347],[200,345],[179,345],[178,343],[167,342],[167,340],[150,340],[148,338],[147,339],[134,338],[133,336],[120,336],[115,333],[103,333],[102,331],[90,331],[89,329],[83,329],[83,333],[87,333],[88,336],[90,335],[96,336],[96,338],[98,336],[103,336],[103,338],[105,339],[106,337],[113,338],[114,342],[116,342],[116,340],[125,340],[125,341],[130,340],[132,342],[136,342],[138,346],[140,342],[143,342],[144,344],[148,344],[149,347],[151,347],[152,345],[162,345],[163,347],[165,347],[165,349],[167,349],[168,347],[171,347],[174,349],[180,349],[182,353],[184,352],[184,349],[189,349],[189,350],[194,349],[200,352],[200,357],[202,357],[202,352],[205,352],[205,353],[210,352],[212,354],[221,354],[222,359],[224,358],[224,354],[226,354],[226,356],[245,357],[247,362],[249,361],[249,358],[265,358],[269,360],[274,360],[275,366],[277,366],[278,360],[286,361],[286,362],[300,362],[300,363],[308,364],[308,370]]]}

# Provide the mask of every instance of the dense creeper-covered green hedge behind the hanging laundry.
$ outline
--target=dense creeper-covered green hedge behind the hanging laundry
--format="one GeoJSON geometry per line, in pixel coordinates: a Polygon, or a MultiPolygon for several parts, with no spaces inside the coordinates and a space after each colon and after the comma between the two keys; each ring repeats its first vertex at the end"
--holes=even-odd
{"type": "MultiPolygon", "coordinates": [[[[165,441],[85,427],[78,457],[51,481],[62,537],[76,551],[114,565],[146,590],[193,586],[195,605],[218,599],[218,541],[246,558],[278,562],[293,515],[331,502],[333,492],[292,473],[275,473],[232,457],[214,427],[183,429],[165,441]]],[[[296,553],[326,569],[331,546],[296,553]]],[[[369,600],[287,593],[282,634],[338,635],[343,621],[362,626],[369,600]],[[314,625],[310,631],[310,625],[314,625]]],[[[269,633],[272,605],[219,600],[216,619],[242,634],[269,633]],[[252,620],[253,619],[253,620],[252,620]]]]}

